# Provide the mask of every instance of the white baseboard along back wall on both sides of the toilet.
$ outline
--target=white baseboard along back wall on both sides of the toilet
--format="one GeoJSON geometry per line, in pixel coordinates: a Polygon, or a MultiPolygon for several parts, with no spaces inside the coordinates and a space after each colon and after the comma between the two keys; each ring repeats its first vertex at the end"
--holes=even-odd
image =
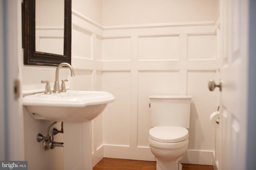
{"type": "MultiPolygon", "coordinates": [[[[132,148],[122,146],[102,146],[105,158],[156,161],[149,148],[132,148]]],[[[94,156],[93,156],[94,158],[94,156]]],[[[184,164],[213,165],[212,150],[187,150],[180,160],[184,164]]],[[[93,161],[95,162],[95,161],[93,161]]],[[[217,169],[218,170],[218,169],[217,169]]]]}

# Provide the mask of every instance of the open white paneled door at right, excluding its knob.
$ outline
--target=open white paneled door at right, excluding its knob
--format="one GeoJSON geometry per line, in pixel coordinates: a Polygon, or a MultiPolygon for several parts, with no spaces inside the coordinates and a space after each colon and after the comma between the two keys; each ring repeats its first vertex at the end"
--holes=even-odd
{"type": "Polygon", "coordinates": [[[246,170],[248,0],[222,0],[219,170],[246,170]]]}

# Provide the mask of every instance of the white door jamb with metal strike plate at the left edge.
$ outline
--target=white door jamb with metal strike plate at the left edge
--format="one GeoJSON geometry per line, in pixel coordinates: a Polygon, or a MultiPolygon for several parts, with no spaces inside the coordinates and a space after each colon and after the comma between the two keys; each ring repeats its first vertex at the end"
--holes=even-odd
{"type": "Polygon", "coordinates": [[[17,83],[22,57],[21,2],[0,0],[0,160],[24,160],[22,97],[17,83]]]}

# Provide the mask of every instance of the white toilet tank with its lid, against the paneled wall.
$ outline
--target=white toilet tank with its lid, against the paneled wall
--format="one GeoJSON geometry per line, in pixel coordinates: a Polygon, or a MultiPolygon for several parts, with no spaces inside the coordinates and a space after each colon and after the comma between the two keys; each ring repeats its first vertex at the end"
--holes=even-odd
{"type": "Polygon", "coordinates": [[[151,126],[189,128],[192,96],[149,96],[151,126]]]}

